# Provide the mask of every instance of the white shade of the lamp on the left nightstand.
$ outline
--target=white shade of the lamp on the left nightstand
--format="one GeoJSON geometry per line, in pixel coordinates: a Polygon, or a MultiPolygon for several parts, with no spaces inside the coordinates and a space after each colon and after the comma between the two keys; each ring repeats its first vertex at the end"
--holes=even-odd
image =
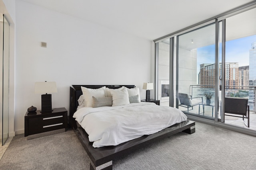
{"type": "Polygon", "coordinates": [[[57,93],[56,82],[36,82],[35,94],[57,93]]]}

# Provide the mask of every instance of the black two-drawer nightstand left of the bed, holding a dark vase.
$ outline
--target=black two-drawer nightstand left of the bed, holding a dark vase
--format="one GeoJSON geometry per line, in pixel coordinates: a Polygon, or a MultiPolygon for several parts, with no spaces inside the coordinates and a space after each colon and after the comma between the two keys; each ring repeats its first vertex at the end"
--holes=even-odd
{"type": "Polygon", "coordinates": [[[51,113],[27,111],[25,115],[25,137],[63,128],[68,129],[68,111],[64,107],[53,109],[51,113]]]}

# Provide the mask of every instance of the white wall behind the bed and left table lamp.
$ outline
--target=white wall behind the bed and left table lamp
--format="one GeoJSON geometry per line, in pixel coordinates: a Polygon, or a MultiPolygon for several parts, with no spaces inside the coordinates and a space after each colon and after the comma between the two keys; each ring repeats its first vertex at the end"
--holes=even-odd
{"type": "Polygon", "coordinates": [[[16,134],[24,133],[27,108],[41,109],[41,96],[34,94],[38,81],[56,81],[53,108],[69,109],[72,84],[135,84],[145,96],[143,82],[153,82],[151,46],[149,40],[17,0],[16,134]]]}

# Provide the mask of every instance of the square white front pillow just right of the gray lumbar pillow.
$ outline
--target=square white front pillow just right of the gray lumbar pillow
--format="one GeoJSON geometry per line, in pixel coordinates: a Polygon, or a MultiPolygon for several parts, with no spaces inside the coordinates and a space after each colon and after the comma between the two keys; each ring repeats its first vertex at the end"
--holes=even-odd
{"type": "Polygon", "coordinates": [[[120,106],[130,104],[129,94],[127,88],[124,87],[121,90],[118,89],[109,89],[112,95],[112,106],[120,106]]]}

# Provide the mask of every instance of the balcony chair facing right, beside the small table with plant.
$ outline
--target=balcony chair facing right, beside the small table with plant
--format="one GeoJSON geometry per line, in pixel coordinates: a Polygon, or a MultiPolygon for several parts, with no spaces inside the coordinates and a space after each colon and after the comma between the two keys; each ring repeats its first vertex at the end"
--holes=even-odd
{"type": "Polygon", "coordinates": [[[193,106],[203,103],[203,97],[190,98],[188,94],[179,93],[179,106],[186,107],[188,111],[193,109],[193,106]],[[201,100],[199,100],[201,98],[201,100]],[[190,107],[192,109],[190,109],[190,107]]]}

